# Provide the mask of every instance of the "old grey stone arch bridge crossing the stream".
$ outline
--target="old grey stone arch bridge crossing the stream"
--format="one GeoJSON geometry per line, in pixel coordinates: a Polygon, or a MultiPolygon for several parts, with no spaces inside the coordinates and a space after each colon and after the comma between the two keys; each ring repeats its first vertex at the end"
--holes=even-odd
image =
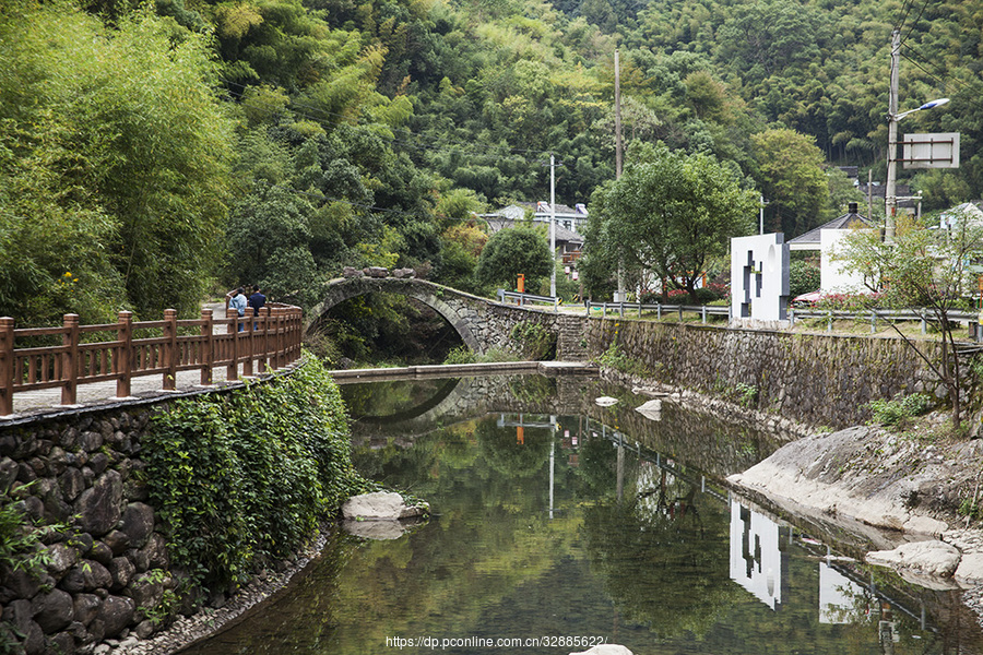
{"type": "Polygon", "coordinates": [[[366,294],[399,294],[414,298],[440,314],[469,348],[478,354],[508,349],[512,327],[535,322],[557,335],[557,359],[582,359],[583,318],[505,305],[431,282],[398,277],[351,277],[325,285],[321,302],[311,311],[316,326],[340,302],[366,294]]]}

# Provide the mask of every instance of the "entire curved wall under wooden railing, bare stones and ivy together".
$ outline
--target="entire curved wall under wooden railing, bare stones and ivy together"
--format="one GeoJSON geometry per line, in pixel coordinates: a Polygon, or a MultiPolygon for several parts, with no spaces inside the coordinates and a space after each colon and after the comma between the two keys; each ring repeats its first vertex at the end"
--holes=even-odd
{"type": "Polygon", "coordinates": [[[0,652],[149,636],[362,489],[336,385],[288,376],[0,432],[0,652]],[[28,527],[32,526],[33,527],[28,527]]]}

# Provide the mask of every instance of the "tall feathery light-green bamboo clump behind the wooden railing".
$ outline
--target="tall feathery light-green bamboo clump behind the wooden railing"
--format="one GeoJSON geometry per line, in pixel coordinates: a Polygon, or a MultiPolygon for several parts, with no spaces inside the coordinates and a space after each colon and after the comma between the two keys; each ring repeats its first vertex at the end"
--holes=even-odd
{"type": "MultiPolygon", "coordinates": [[[[46,216],[84,217],[79,242],[35,266],[24,291],[75,273],[78,247],[116,272],[79,285],[126,289],[104,309],[193,312],[215,261],[232,141],[209,41],[174,38],[169,20],[143,13],[110,29],[68,2],[23,7],[0,12],[0,142],[14,163],[3,170],[40,192],[46,216]]],[[[26,215],[22,199],[4,205],[26,215]]]]}

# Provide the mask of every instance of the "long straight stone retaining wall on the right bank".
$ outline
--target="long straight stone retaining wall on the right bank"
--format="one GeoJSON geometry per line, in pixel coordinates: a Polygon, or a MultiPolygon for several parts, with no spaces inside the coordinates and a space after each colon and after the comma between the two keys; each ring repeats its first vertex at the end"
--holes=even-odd
{"type": "MultiPolygon", "coordinates": [[[[583,333],[593,357],[617,343],[658,381],[735,398],[743,390],[754,408],[815,426],[863,424],[871,418],[871,400],[898,393],[946,397],[927,365],[900,338],[626,319],[584,319],[583,333]]],[[[917,347],[937,361],[937,342],[917,347]]]]}

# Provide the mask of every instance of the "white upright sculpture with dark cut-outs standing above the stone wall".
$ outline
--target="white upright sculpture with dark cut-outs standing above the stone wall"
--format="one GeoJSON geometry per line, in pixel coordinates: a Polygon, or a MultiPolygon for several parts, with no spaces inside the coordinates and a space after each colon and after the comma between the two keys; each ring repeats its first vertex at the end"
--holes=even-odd
{"type": "Polygon", "coordinates": [[[782,234],[731,239],[731,315],[784,321],[789,309],[789,245],[782,234]]]}

